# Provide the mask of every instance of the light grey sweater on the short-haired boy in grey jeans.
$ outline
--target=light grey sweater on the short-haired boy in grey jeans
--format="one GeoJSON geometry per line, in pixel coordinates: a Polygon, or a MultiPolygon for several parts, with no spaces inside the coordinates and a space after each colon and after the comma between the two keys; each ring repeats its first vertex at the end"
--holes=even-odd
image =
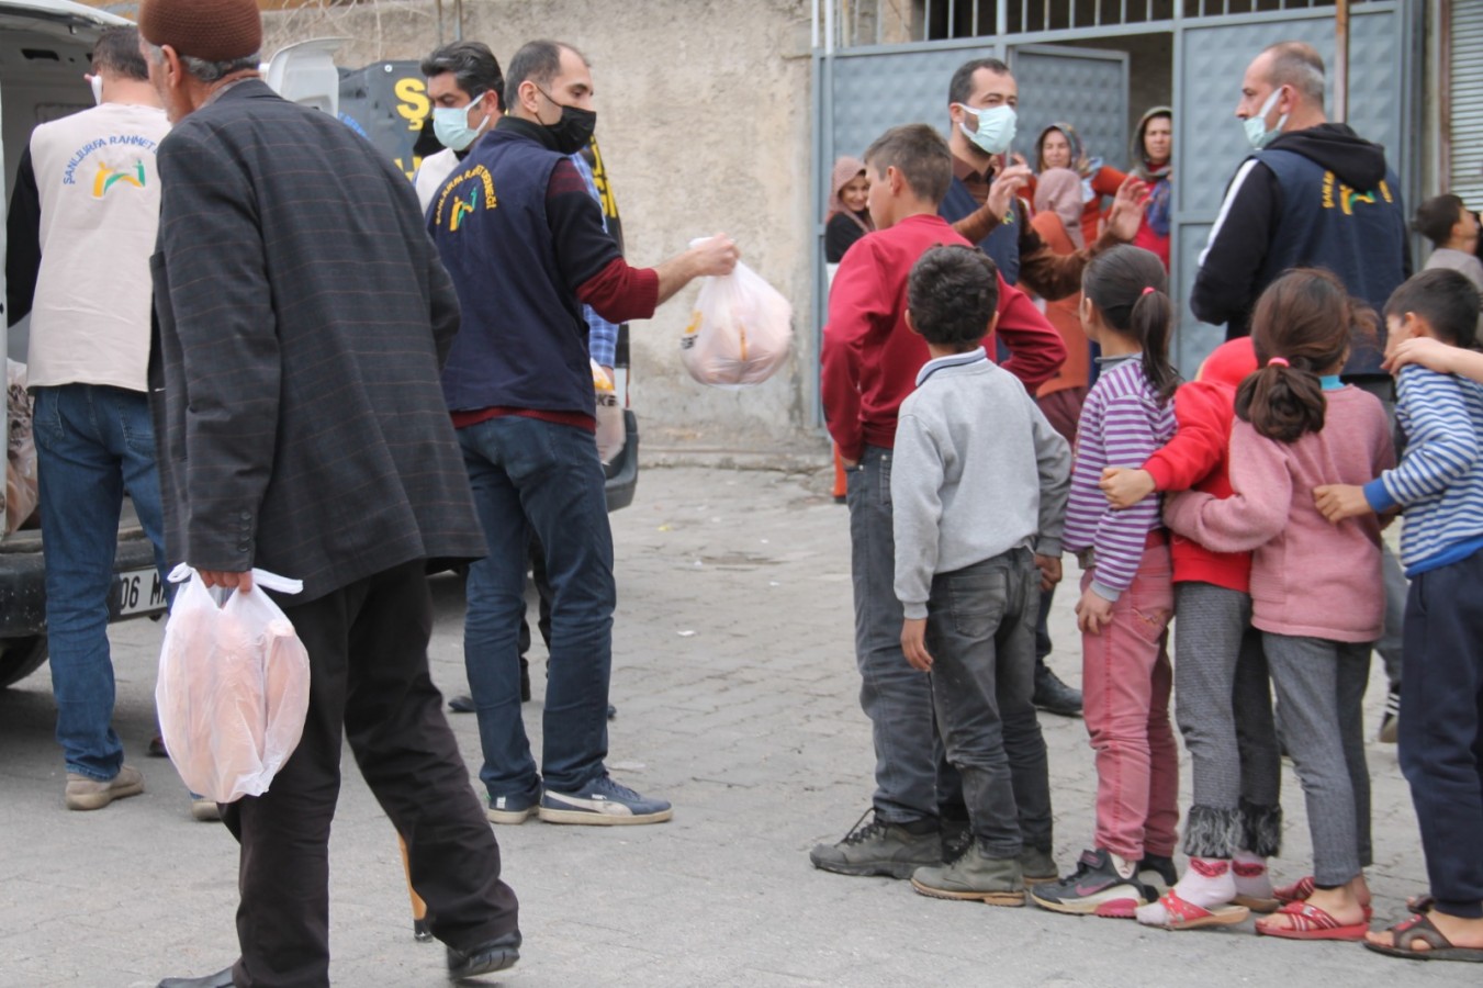
{"type": "Polygon", "coordinates": [[[902,402],[891,464],[906,617],[927,617],[933,574],[1017,547],[1059,556],[1069,484],[1071,447],[982,347],[930,360],[902,402]]]}

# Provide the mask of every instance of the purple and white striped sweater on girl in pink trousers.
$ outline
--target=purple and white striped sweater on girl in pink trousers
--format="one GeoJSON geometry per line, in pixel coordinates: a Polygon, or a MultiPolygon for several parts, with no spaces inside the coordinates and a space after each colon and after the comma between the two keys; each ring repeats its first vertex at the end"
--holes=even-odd
{"type": "Polygon", "coordinates": [[[1096,549],[1091,589],[1115,601],[1137,576],[1148,533],[1163,528],[1158,498],[1114,510],[1097,487],[1105,467],[1137,469],[1175,435],[1173,399],[1158,404],[1143,375],[1142,355],[1102,360],[1102,377],[1087,393],[1077,427],[1066,547],[1096,549]]]}

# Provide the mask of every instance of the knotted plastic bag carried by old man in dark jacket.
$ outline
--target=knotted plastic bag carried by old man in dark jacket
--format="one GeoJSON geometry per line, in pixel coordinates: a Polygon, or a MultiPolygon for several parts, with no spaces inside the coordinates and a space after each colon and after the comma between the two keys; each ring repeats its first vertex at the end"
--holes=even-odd
{"type": "Polygon", "coordinates": [[[181,564],[154,705],[175,770],[217,803],[262,795],[304,734],[308,651],[264,589],[298,593],[298,580],[252,571],[252,592],[209,589],[181,564]]]}

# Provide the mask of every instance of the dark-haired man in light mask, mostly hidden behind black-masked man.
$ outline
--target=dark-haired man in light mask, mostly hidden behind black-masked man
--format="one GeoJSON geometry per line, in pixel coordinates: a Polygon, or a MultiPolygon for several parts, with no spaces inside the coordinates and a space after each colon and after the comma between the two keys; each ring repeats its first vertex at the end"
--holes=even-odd
{"type": "Polygon", "coordinates": [[[412,185],[427,212],[429,203],[458,168],[473,142],[504,113],[500,92],[504,74],[488,45],[454,42],[423,59],[427,98],[433,104],[433,134],[443,150],[423,159],[412,185]]]}

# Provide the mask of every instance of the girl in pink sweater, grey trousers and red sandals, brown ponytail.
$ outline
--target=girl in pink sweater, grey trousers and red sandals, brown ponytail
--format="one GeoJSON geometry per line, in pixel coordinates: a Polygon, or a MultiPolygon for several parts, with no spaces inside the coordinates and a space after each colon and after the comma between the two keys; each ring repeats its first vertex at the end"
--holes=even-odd
{"type": "MultiPolygon", "coordinates": [[[[1176,533],[1216,552],[1252,550],[1252,625],[1278,697],[1278,724],[1308,803],[1314,874],[1256,926],[1287,939],[1364,939],[1370,789],[1360,702],[1384,614],[1379,524],[1330,525],[1323,484],[1363,484],[1396,463],[1385,409],[1339,381],[1357,312],[1327,271],[1298,269],[1256,303],[1262,369],[1243,381],[1231,429],[1232,495],[1169,498],[1176,533]],[[1338,478],[1357,478],[1338,481],[1338,478]]],[[[1373,325],[1373,323],[1372,323],[1373,325]]]]}

